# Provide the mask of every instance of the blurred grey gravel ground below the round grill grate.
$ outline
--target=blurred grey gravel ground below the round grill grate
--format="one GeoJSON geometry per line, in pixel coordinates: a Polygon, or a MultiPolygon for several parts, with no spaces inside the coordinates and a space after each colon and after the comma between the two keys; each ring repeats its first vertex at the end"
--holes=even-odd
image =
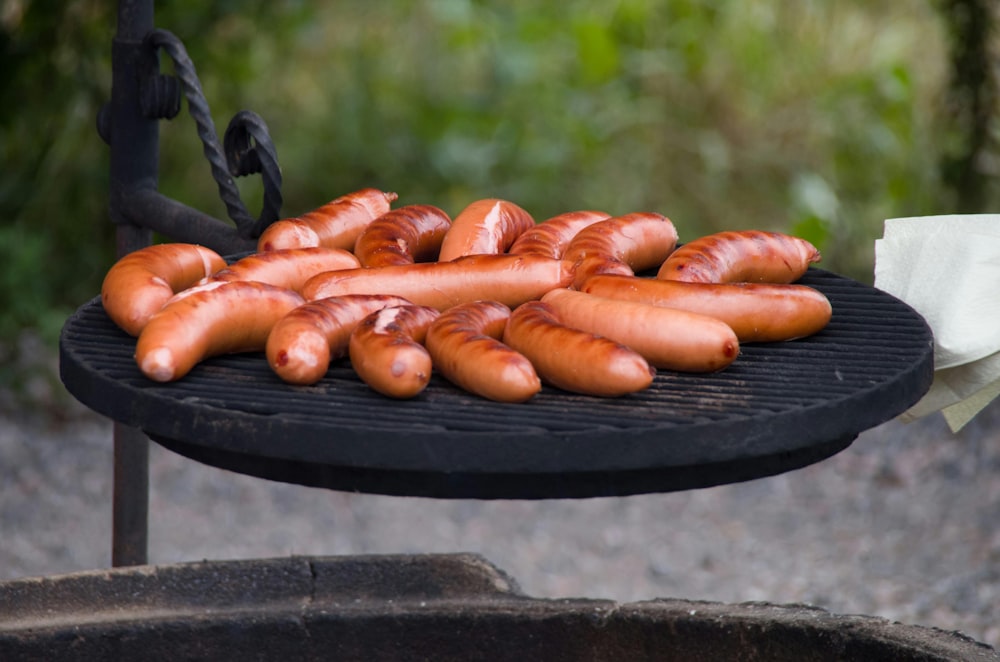
{"type": "MultiPolygon", "coordinates": [[[[0,580],[110,565],[111,424],[58,418],[0,420],[0,580]]],[[[781,476],[614,499],[340,493],[154,444],[149,547],[157,564],[476,552],[535,597],[803,602],[1000,648],[1000,406],[958,434],[891,421],[781,476]]]]}

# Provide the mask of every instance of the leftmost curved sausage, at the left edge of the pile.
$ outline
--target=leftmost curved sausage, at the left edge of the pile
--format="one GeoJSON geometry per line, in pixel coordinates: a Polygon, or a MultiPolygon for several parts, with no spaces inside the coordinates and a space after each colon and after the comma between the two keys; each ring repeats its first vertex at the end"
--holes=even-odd
{"type": "Polygon", "coordinates": [[[226,266],[215,251],[196,244],[155,244],[123,256],[101,285],[101,303],[123,331],[138,336],[146,322],[182,289],[226,266]]]}

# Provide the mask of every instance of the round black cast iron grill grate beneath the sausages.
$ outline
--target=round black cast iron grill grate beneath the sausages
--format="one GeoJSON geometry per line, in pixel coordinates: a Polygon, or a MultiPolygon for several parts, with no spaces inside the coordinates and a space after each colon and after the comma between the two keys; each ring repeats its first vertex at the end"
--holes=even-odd
{"type": "Polygon", "coordinates": [[[708,487],[799,468],[905,411],[930,388],[933,337],[898,299],[810,269],[830,324],[744,344],[714,374],[661,370],[614,399],[545,387],[502,404],[434,376],[413,400],[371,391],[346,359],[315,386],[278,379],[262,353],[210,359],[160,384],[95,298],[60,339],[67,389],[192,459],[272,480],[441,498],[595,497],[708,487]]]}

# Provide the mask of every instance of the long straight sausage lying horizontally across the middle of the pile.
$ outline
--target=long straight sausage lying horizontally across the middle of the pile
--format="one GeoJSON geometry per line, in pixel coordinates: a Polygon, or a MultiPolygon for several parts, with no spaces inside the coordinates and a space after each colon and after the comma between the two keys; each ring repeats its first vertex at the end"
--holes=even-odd
{"type": "Polygon", "coordinates": [[[342,294],[395,294],[445,310],[494,299],[514,307],[573,280],[573,265],[538,255],[468,255],[451,262],[419,262],[319,274],[302,287],[309,300],[342,294]]]}

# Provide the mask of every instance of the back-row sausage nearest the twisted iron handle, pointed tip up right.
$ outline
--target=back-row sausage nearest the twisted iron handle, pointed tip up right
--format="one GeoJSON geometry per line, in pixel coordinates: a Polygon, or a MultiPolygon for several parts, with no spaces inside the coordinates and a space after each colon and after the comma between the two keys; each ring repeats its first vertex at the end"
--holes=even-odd
{"type": "Polygon", "coordinates": [[[257,250],[310,246],[351,250],[365,226],[389,211],[397,197],[374,188],[342,195],[301,216],[275,221],[257,239],[257,250]]]}

